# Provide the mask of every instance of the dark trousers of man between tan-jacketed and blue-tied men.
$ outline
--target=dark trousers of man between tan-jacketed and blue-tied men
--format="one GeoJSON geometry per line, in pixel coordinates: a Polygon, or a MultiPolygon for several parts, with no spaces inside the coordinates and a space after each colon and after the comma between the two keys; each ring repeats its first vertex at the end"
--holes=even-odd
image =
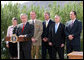
{"type": "Polygon", "coordinates": [[[47,55],[47,50],[48,50],[48,54],[49,54],[49,58],[52,59],[52,47],[42,43],[42,59],[46,59],[46,55],[47,55]]]}

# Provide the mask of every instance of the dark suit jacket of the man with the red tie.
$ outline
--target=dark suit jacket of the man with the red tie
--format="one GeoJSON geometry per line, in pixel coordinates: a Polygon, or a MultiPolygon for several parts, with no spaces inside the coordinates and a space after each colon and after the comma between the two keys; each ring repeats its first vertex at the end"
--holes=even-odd
{"type": "MultiPolygon", "coordinates": [[[[34,31],[34,27],[31,24],[29,24],[29,22],[27,22],[26,25],[25,25],[25,27],[24,27],[24,30],[22,32],[22,23],[21,23],[21,24],[19,24],[17,26],[16,35],[17,36],[19,36],[19,35],[26,35],[26,37],[30,38],[29,41],[31,41],[31,37],[33,36],[33,33],[34,33],[33,31],[34,31]]],[[[27,42],[23,42],[22,44],[26,45],[28,43],[27,42]]]]}

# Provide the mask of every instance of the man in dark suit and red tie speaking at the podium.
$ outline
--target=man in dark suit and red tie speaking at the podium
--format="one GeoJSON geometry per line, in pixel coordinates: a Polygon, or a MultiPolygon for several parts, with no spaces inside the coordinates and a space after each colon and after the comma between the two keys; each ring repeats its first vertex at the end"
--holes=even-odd
{"type": "Polygon", "coordinates": [[[31,59],[31,38],[33,37],[34,26],[27,22],[27,15],[21,14],[22,23],[17,26],[17,36],[27,37],[30,40],[20,42],[20,59],[31,59]]]}

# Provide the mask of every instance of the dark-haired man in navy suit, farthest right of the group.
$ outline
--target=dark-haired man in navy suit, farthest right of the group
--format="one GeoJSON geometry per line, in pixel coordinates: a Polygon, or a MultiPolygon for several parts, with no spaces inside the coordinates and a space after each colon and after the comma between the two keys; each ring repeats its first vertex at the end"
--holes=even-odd
{"type": "Polygon", "coordinates": [[[80,33],[82,23],[76,19],[76,12],[70,12],[70,21],[66,23],[65,33],[67,37],[67,53],[80,51],[80,33]]]}

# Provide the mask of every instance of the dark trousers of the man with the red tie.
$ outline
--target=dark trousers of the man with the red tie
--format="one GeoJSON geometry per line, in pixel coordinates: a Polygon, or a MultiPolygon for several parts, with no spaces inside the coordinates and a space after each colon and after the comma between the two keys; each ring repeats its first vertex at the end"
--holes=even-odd
{"type": "Polygon", "coordinates": [[[31,42],[20,42],[20,59],[31,59],[31,42]]]}

